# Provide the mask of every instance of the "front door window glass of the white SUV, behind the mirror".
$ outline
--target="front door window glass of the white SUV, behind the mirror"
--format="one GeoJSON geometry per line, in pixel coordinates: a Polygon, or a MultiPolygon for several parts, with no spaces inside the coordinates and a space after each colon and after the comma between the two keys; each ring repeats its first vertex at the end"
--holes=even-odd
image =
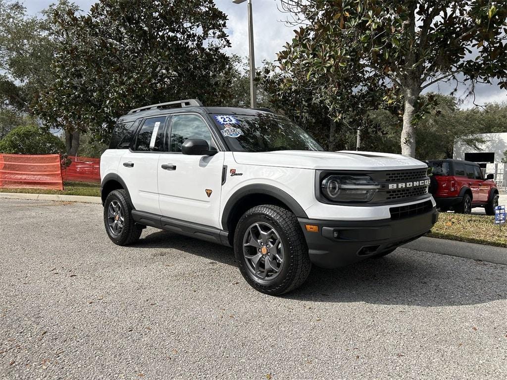
{"type": "Polygon", "coordinates": [[[172,118],[169,151],[180,152],[188,138],[202,138],[214,146],[208,125],[196,115],[176,115],[172,118]]]}

